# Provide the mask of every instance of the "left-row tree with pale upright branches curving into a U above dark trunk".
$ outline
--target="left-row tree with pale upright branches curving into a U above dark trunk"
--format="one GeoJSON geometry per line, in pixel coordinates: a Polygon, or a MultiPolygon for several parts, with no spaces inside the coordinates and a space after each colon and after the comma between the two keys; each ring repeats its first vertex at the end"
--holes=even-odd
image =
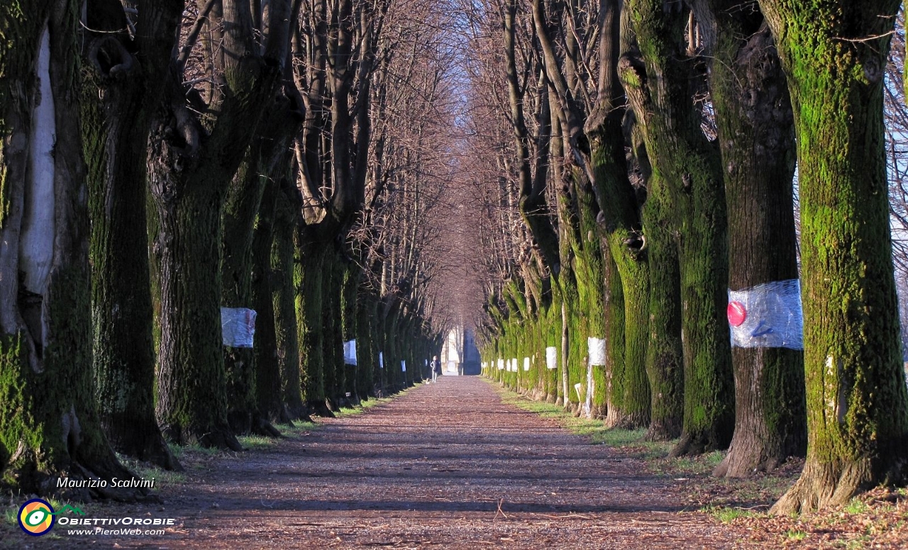
{"type": "Polygon", "coordinates": [[[341,287],[350,268],[347,237],[365,202],[371,76],[389,5],[319,0],[304,8],[295,29],[294,80],[307,107],[296,143],[304,221],[294,237],[300,369],[304,399],[325,416],[346,402],[341,287]]]}

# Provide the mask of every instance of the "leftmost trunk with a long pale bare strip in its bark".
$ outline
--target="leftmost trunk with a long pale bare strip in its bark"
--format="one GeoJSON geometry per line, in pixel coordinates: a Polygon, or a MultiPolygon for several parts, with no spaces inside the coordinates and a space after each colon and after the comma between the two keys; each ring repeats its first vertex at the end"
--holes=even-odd
{"type": "Polygon", "coordinates": [[[94,402],[78,13],[75,2],[0,5],[0,485],[133,499],[145,490],[56,485],[133,478],[94,402]]]}

